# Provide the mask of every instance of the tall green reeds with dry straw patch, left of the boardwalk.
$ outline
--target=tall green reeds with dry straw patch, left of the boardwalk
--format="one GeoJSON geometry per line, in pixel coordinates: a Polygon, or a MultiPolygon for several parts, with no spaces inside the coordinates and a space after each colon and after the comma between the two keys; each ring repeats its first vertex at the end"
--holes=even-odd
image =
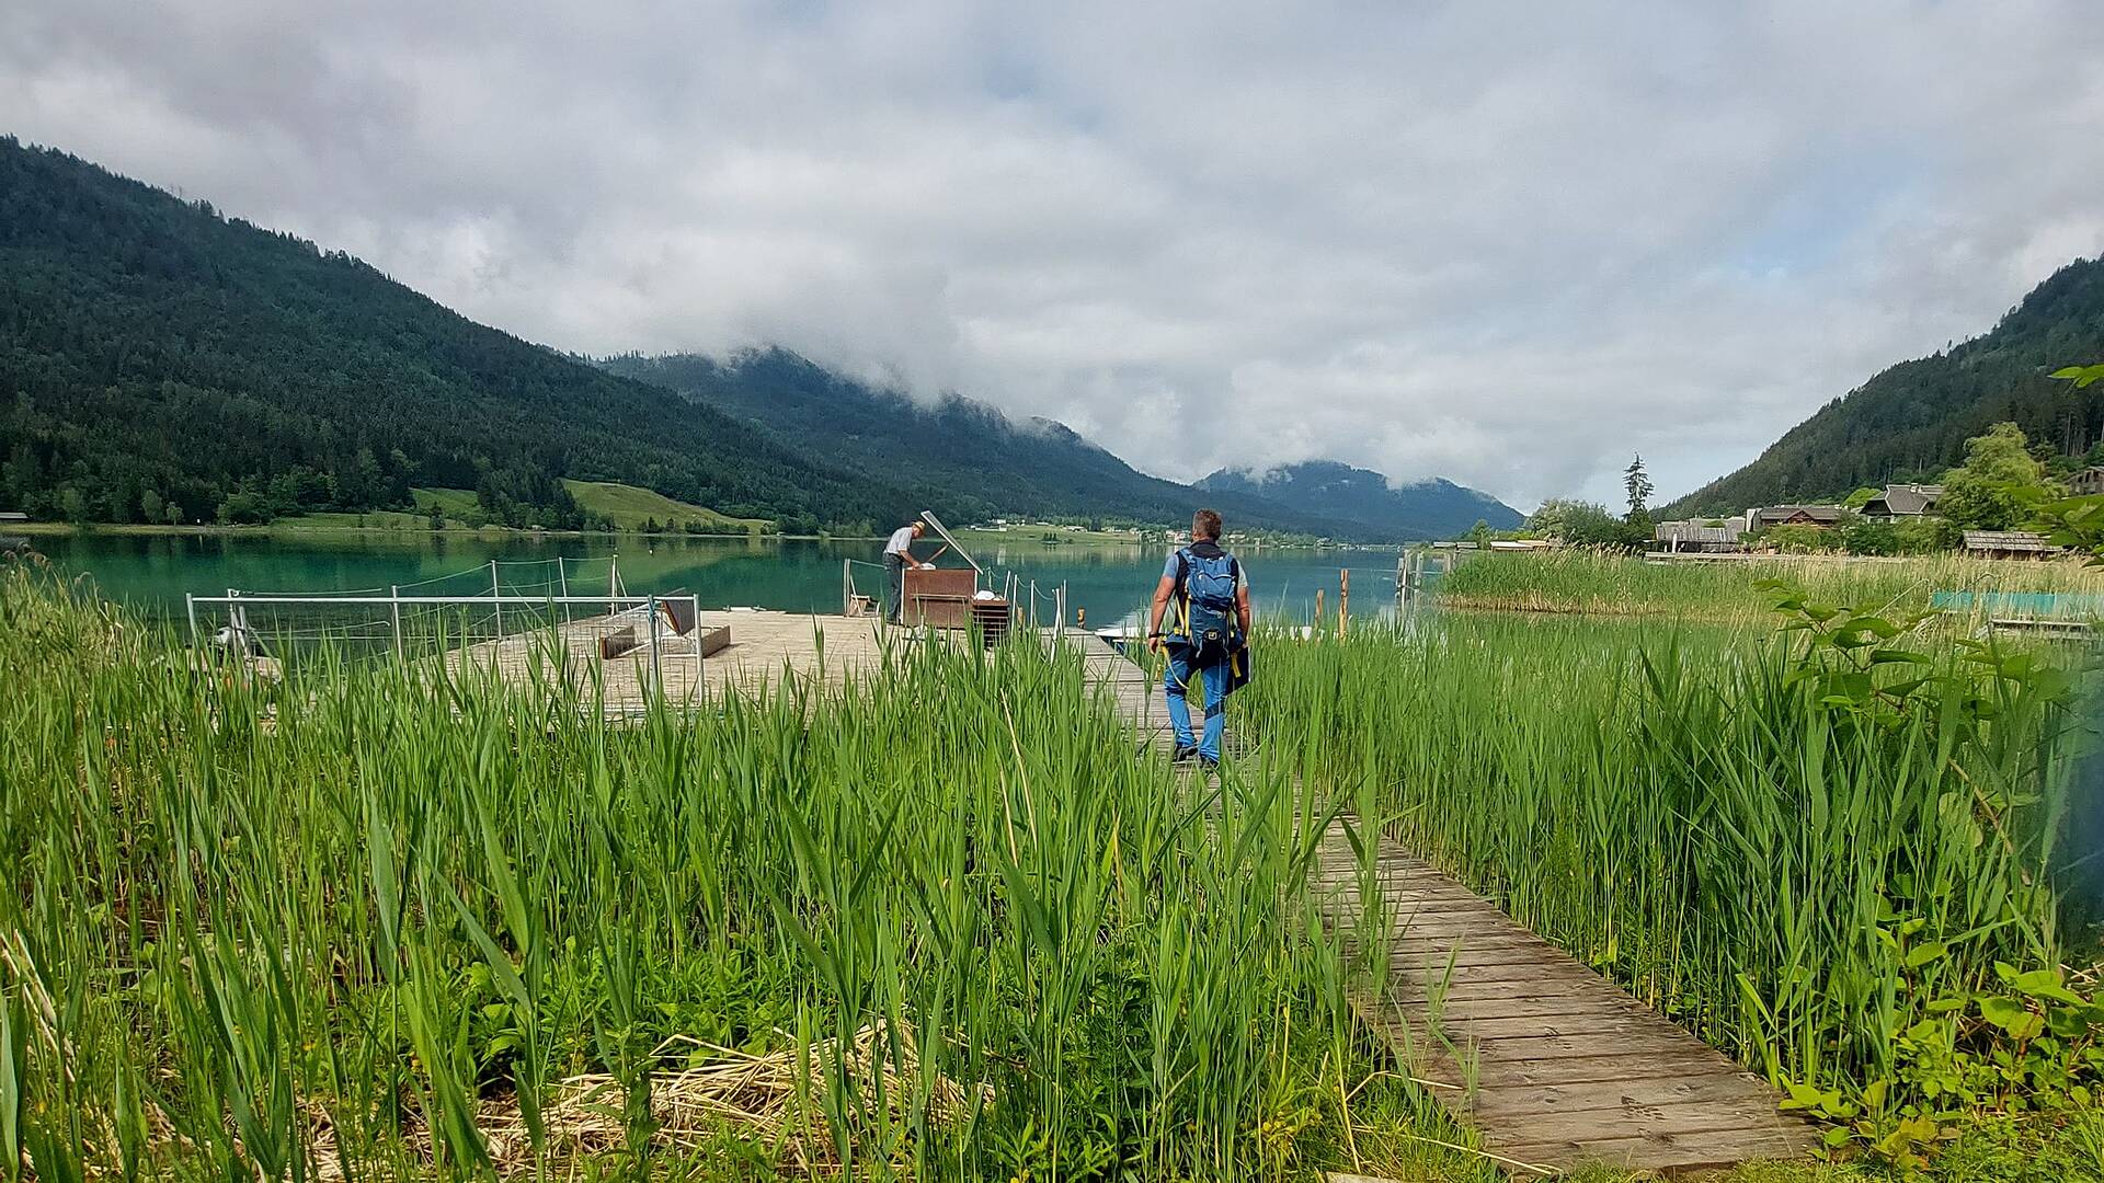
{"type": "Polygon", "coordinates": [[[1029,638],[558,686],[0,573],[0,1175],[1492,1175],[1353,1036],[1296,768],[1180,789],[1029,638]]]}

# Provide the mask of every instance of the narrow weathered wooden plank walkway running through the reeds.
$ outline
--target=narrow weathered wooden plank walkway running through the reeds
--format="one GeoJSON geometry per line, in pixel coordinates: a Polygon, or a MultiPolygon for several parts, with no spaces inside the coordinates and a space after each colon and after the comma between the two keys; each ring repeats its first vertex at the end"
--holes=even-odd
{"type": "MultiPolygon", "coordinates": [[[[1145,745],[1168,747],[1159,690],[1134,663],[1077,629],[1048,642],[1077,648],[1090,686],[1145,745]]],[[[1332,928],[1387,924],[1389,983],[1353,1002],[1359,1019],[1506,1166],[1681,1172],[1814,1147],[1767,1082],[1391,838],[1363,871],[1338,821],[1313,874],[1332,928]]]]}

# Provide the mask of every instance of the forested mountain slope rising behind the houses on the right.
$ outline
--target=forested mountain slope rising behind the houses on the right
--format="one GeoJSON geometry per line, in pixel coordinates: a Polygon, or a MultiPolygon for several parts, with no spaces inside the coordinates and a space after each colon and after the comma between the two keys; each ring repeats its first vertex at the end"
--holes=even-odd
{"type": "Polygon", "coordinates": [[[1965,457],[1967,438],[2001,421],[2014,421],[2035,442],[2085,453],[2104,432],[2104,383],[2077,392],[2047,375],[2098,360],[2104,259],[2081,259],[2032,288],[1992,333],[1883,370],[1793,427],[1761,459],[1660,514],[1738,514],[1934,480],[1965,457]]]}

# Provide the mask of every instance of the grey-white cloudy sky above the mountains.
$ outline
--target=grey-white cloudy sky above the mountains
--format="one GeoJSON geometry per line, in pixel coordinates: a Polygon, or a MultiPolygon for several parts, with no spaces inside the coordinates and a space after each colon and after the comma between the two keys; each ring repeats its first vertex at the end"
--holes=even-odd
{"type": "Polygon", "coordinates": [[[11,0],[0,131],[579,352],[1142,469],[1744,463],[2104,250],[2096,0],[11,0]]]}

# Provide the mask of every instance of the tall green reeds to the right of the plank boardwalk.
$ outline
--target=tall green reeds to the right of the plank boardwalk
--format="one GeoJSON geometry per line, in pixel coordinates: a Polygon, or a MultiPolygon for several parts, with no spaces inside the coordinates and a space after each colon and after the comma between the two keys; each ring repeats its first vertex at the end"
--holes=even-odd
{"type": "Polygon", "coordinates": [[[1801,636],[1445,613],[1273,644],[1246,718],[1744,1063],[1891,1080],[1934,1000],[2060,962],[2066,697],[1946,653],[1858,714],[1801,636]]]}

